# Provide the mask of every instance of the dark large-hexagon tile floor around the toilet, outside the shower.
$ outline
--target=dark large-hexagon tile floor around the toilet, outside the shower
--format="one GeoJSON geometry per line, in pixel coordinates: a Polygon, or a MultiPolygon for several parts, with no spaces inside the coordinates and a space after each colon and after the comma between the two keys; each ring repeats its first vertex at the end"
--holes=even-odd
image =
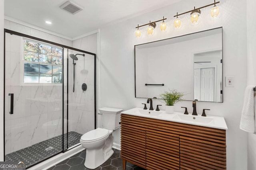
{"type": "MultiPolygon", "coordinates": [[[[113,149],[114,154],[101,166],[94,170],[122,170],[122,158],[120,157],[120,150],[113,149]]],[[[84,167],[84,158],[86,156],[86,150],[71,156],[70,158],[52,166],[48,170],[90,170],[84,167]]],[[[145,170],[130,162],[126,163],[126,170],[145,170]]]]}

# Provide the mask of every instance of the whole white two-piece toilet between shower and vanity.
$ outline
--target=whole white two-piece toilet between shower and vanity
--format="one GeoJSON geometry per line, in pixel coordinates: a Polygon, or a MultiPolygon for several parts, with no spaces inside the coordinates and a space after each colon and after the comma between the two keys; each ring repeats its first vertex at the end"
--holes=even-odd
{"type": "Polygon", "coordinates": [[[120,114],[123,109],[100,108],[102,128],[97,128],[82,135],[80,143],[86,149],[84,166],[95,169],[103,164],[114,151],[112,132],[120,127],[120,114]]]}

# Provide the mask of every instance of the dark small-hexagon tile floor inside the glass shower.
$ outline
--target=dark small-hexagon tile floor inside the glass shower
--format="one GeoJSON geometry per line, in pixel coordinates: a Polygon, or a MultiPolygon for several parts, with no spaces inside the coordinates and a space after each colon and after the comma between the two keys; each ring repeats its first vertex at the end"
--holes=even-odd
{"type": "MultiPolygon", "coordinates": [[[[68,147],[72,147],[73,145],[80,143],[81,136],[82,134],[74,131],[68,132],[68,147]]],[[[64,144],[66,143],[67,134],[64,134],[64,144]]],[[[40,162],[61,151],[62,135],[59,135],[30,147],[6,154],[5,161],[23,161],[26,164],[26,168],[29,168],[33,164],[36,164],[37,162],[40,162]],[[52,148],[50,150],[46,150],[49,147],[52,148]]]]}

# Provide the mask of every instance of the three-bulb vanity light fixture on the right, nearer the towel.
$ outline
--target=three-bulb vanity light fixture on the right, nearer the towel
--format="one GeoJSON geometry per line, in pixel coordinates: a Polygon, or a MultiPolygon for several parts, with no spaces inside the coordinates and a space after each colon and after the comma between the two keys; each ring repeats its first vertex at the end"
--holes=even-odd
{"type": "Polygon", "coordinates": [[[200,8],[194,7],[194,10],[190,10],[190,11],[187,11],[187,12],[183,12],[183,13],[181,13],[181,14],[178,14],[178,12],[177,12],[177,15],[174,16],[174,17],[177,17],[177,18],[174,20],[174,27],[176,27],[176,28],[180,27],[180,20],[178,20],[178,16],[183,15],[183,14],[187,14],[187,13],[190,13],[190,21],[191,21],[192,23],[197,23],[197,22],[198,22],[198,17],[199,17],[200,14],[201,14],[200,9],[206,8],[206,7],[212,6],[212,5],[214,5],[214,7],[211,9],[211,16],[212,16],[213,18],[215,18],[215,17],[218,16],[218,14],[219,14],[219,7],[216,6],[216,4],[218,4],[218,3],[220,3],[220,1],[216,2],[216,1],[214,0],[214,3],[213,3],[213,4],[208,4],[208,5],[202,6],[202,7],[200,7],[200,8]],[[178,26],[178,23],[179,23],[179,26],[178,26]]]}

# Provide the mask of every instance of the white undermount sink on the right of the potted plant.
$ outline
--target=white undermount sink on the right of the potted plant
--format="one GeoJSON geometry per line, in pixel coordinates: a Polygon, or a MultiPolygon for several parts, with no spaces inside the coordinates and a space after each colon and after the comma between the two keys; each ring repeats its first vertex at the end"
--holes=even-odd
{"type": "Polygon", "coordinates": [[[210,117],[202,117],[199,115],[175,115],[173,119],[180,119],[183,121],[193,121],[198,123],[211,123],[213,118],[210,117]]]}

